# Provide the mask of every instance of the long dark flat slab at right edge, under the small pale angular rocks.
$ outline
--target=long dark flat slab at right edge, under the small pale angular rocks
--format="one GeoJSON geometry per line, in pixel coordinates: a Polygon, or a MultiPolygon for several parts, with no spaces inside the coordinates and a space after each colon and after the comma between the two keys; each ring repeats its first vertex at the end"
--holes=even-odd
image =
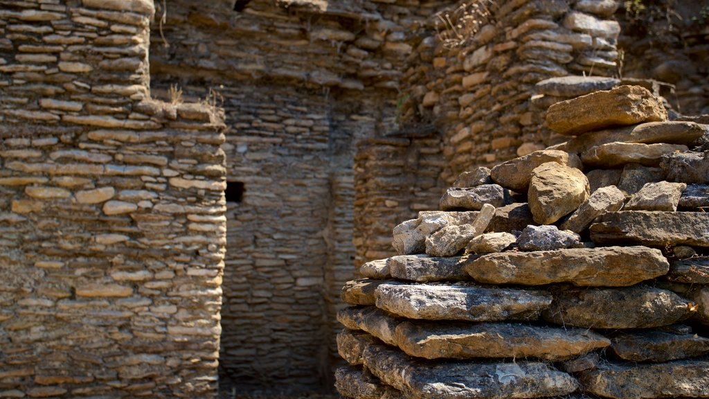
{"type": "Polygon", "coordinates": [[[709,213],[608,212],[591,224],[591,240],[606,245],[619,241],[645,246],[709,247],[709,213]]]}

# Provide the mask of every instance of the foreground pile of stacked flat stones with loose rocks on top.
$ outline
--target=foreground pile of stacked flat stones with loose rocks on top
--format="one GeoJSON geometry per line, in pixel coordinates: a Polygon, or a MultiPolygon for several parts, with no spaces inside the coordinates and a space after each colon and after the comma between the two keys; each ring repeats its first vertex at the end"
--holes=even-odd
{"type": "Polygon", "coordinates": [[[547,124],[568,141],[463,173],[345,285],[343,396],[709,396],[709,126],[637,86],[547,124]]]}

